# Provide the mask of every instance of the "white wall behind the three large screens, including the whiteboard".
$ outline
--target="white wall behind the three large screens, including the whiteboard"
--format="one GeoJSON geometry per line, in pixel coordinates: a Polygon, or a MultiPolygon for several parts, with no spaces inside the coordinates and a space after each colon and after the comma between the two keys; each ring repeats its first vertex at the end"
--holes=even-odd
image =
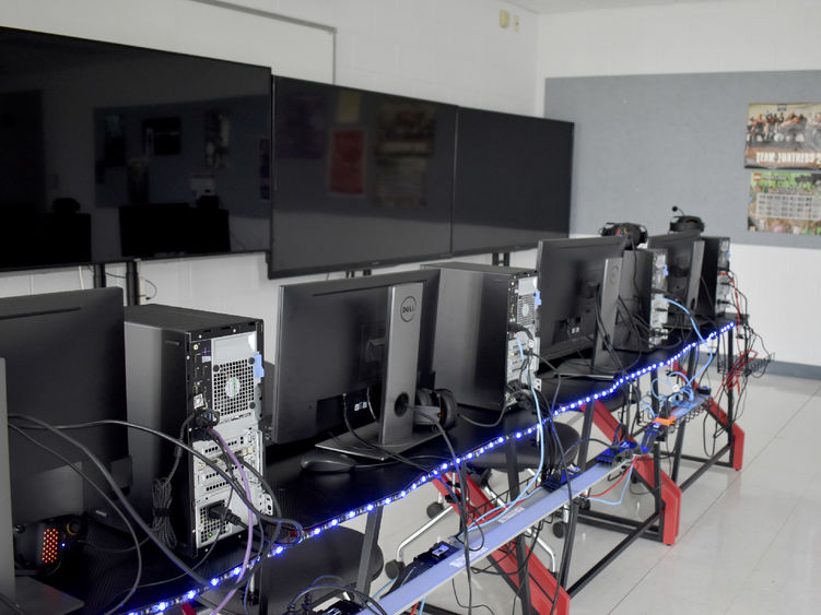
{"type": "MultiPolygon", "coordinates": [[[[538,19],[500,0],[233,0],[336,28],[278,22],[195,0],[2,0],[0,24],[172,51],[269,63],[277,74],[521,115],[536,107],[538,19]],[[500,10],[511,13],[507,29],[500,10]],[[518,28],[514,29],[514,17],[518,28]],[[336,48],[332,42],[336,38],[336,48]],[[336,55],[336,64],[333,58],[336,55]]],[[[527,258],[527,257],[525,257],[527,258]]],[[[464,259],[462,259],[464,260],[464,259]]],[[[490,257],[470,260],[490,262],[490,257]]],[[[535,261],[535,258],[533,258],[535,261]]],[[[415,268],[415,264],[403,269],[415,268]]],[[[402,268],[394,268],[396,269],[402,268]]],[[[262,318],[273,357],[277,288],[265,257],[144,262],[150,301],[262,318]],[[155,286],[155,288],[154,288],[155,286]]],[[[382,271],[382,270],[380,270],[382,271]]],[[[115,274],[122,274],[115,270],[115,274]]],[[[339,276],[340,274],[333,274],[339,276]]],[[[0,296],[91,287],[78,270],[0,274],[0,296]]],[[[109,285],[121,282],[109,279],[109,285]]]]}

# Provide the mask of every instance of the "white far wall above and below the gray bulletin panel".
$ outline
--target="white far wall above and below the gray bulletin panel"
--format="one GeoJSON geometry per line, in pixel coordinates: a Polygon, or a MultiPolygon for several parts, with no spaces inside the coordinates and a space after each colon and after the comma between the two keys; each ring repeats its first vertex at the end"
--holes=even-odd
{"type": "MultiPolygon", "coordinates": [[[[811,19],[817,10],[817,1],[761,0],[541,15],[537,106],[543,109],[550,96],[547,78],[817,70],[821,38],[811,19]]],[[[741,194],[739,215],[746,214],[747,194],[741,194]]],[[[821,366],[814,343],[821,335],[819,264],[821,250],[732,248],[751,322],[776,360],[821,366]]]]}

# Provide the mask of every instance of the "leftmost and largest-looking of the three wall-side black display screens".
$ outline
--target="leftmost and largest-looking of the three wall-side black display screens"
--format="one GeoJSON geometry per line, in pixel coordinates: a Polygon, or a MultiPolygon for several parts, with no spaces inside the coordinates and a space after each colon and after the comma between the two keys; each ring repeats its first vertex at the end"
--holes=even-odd
{"type": "Polygon", "coordinates": [[[269,248],[271,71],[0,28],[0,270],[269,248]]]}

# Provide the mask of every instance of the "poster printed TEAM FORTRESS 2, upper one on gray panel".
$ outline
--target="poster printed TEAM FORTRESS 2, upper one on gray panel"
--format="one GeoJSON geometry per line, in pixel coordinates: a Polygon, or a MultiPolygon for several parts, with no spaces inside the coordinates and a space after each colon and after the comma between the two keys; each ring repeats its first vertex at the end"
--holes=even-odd
{"type": "Polygon", "coordinates": [[[746,167],[821,168],[821,103],[757,103],[747,118],[746,167]]]}

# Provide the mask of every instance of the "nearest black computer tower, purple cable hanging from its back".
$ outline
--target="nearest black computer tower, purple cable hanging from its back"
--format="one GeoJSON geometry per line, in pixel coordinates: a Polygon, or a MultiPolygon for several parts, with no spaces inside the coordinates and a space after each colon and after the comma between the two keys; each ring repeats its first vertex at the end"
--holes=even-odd
{"type": "MultiPolygon", "coordinates": [[[[129,421],[183,440],[239,480],[203,426],[225,440],[237,458],[265,472],[262,419],[262,321],[193,309],[151,305],[125,308],[126,379],[129,421]],[[210,423],[209,423],[210,421],[210,423]]],[[[154,513],[152,485],[174,464],[173,443],[131,429],[134,473],[130,498],[146,520],[154,513]]],[[[270,497],[250,472],[251,500],[271,513],[270,497]]],[[[241,498],[201,459],[185,452],[172,484],[167,515],[178,551],[195,556],[241,525],[212,518],[209,509],[227,505],[247,522],[241,498]],[[221,528],[222,525],[222,528],[221,528]]],[[[161,515],[163,511],[161,511],[161,515]]]]}

